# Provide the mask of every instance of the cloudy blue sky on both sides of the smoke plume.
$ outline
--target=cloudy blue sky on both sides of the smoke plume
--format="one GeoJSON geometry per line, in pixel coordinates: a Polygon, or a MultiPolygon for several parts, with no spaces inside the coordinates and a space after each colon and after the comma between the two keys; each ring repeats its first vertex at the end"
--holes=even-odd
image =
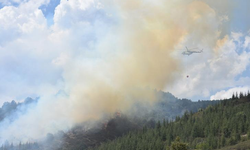
{"type": "MultiPolygon", "coordinates": [[[[215,44],[192,38],[194,30],[173,51],[181,71],[163,90],[180,98],[226,98],[250,88],[249,1],[207,5],[214,11],[210,14],[214,16],[207,19],[211,19],[209,24],[218,34],[212,35],[215,44]],[[185,46],[203,48],[204,52],[183,56],[185,46]]],[[[81,64],[89,63],[84,55],[97,59],[98,55],[89,56],[88,52],[95,51],[102,36],[114,32],[112,29],[121,24],[121,17],[124,16],[114,7],[97,0],[0,0],[0,103],[55,95],[69,88],[65,85],[65,68],[72,67],[67,65],[68,60],[81,64]]],[[[115,36],[109,38],[117,40],[115,36]]]]}

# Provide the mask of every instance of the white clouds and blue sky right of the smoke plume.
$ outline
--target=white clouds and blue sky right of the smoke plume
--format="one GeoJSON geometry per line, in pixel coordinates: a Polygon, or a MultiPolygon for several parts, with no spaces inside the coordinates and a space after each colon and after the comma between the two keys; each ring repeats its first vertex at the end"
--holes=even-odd
{"type": "MultiPolygon", "coordinates": [[[[224,29],[227,31],[224,37],[217,39],[217,45],[212,49],[218,51],[216,56],[206,57],[205,61],[199,61],[197,57],[200,56],[193,56],[197,60],[188,58],[192,64],[185,66],[188,68],[186,74],[192,75],[189,75],[191,78],[186,81],[177,81],[179,86],[174,85],[174,90],[170,90],[176,95],[193,100],[217,100],[230,98],[236,92],[249,91],[249,2],[229,1],[229,5],[232,7],[231,10],[222,15],[225,19],[224,29]],[[181,88],[183,90],[178,90],[181,88]]],[[[205,53],[209,50],[211,49],[205,49],[202,55],[207,55],[205,53]]]]}

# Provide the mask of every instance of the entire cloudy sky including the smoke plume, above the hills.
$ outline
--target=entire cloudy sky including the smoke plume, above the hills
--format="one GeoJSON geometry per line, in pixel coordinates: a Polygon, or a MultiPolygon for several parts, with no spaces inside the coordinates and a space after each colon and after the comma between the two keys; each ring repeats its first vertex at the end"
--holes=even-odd
{"type": "Polygon", "coordinates": [[[0,135],[19,142],[66,131],[137,101],[152,103],[154,90],[193,101],[248,92],[247,6],[246,0],[0,0],[0,104],[40,97],[15,121],[2,121],[0,135]],[[185,47],[203,52],[182,55],[185,47]]]}

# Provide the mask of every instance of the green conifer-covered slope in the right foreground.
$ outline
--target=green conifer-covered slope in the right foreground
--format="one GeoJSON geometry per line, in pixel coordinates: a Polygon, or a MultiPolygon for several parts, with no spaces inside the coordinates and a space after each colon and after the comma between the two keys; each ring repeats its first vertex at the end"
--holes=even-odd
{"type": "Polygon", "coordinates": [[[250,94],[240,93],[197,113],[186,112],[175,121],[159,121],[155,128],[129,132],[91,150],[174,149],[177,137],[187,143],[187,149],[219,149],[249,140],[249,125],[250,94]]]}

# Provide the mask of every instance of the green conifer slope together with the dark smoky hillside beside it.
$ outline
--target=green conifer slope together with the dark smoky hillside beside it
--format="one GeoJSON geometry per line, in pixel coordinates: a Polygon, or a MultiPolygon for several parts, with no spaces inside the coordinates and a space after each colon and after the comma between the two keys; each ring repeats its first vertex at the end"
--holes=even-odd
{"type": "Polygon", "coordinates": [[[167,115],[166,111],[171,111],[170,108],[179,108],[182,111],[186,108],[187,111],[175,118],[170,115],[171,117],[163,119],[158,119],[159,115],[153,111],[150,118],[158,116],[158,121],[144,120],[144,123],[138,118],[136,120],[124,114],[116,115],[107,122],[105,128],[102,126],[99,130],[83,132],[81,127],[77,127],[67,133],[61,132],[60,139],[56,135],[48,134],[45,143],[13,145],[6,141],[0,150],[209,150],[227,149],[228,146],[236,144],[242,146],[242,143],[246,148],[246,143],[249,143],[250,93],[236,93],[230,99],[213,103],[166,99],[157,104],[156,108],[161,108],[158,113],[164,112],[167,115]],[[164,108],[168,109],[164,111],[164,108]]]}

